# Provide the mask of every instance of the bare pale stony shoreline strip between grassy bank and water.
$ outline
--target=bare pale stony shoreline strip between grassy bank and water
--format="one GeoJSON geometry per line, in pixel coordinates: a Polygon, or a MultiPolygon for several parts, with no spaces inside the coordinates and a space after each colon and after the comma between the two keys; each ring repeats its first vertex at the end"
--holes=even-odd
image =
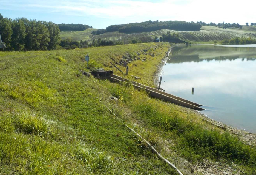
{"type": "MultiPolygon", "coordinates": [[[[169,56],[171,54],[173,46],[175,46],[175,45],[171,45],[169,50],[166,52],[165,57],[157,65],[157,70],[154,72],[154,76],[153,76],[153,82],[154,82],[155,86],[158,86],[160,75],[163,72],[163,66],[166,64],[167,59],[169,58],[169,56]]],[[[183,107],[183,108],[186,109],[185,111],[193,111],[194,113],[197,113],[197,115],[199,115],[208,124],[214,125],[220,129],[222,129],[223,131],[228,131],[229,133],[237,135],[244,142],[244,144],[250,145],[250,146],[256,148],[256,133],[250,133],[249,131],[240,130],[239,128],[235,128],[235,127],[229,126],[225,123],[218,122],[214,119],[207,117],[205,114],[200,113],[200,111],[197,111],[194,109],[189,109],[186,107],[183,107]]]]}

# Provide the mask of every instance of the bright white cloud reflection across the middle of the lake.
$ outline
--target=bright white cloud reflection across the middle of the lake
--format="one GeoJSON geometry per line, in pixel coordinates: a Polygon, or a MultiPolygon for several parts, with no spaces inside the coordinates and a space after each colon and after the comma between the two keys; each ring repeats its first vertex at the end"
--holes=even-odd
{"type": "Polygon", "coordinates": [[[223,94],[250,97],[256,94],[256,62],[235,61],[200,62],[174,65],[164,69],[165,83],[163,89],[172,91],[189,90],[197,87],[203,93],[213,94],[216,91],[223,94]],[[178,73],[177,73],[178,72],[178,73]],[[166,81],[171,79],[171,81],[166,81]]]}

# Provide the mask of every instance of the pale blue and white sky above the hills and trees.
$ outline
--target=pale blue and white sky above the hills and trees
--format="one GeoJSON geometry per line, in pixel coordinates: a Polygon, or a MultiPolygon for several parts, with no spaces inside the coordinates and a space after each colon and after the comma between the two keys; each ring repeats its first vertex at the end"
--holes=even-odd
{"type": "Polygon", "coordinates": [[[256,0],[1,0],[7,18],[106,28],[142,21],[256,23],[256,0]]]}

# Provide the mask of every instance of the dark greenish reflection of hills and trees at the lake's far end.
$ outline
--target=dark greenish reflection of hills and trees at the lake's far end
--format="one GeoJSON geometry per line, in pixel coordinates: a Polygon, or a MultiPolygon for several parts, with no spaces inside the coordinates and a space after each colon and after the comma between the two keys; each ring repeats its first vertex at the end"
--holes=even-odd
{"type": "Polygon", "coordinates": [[[187,46],[174,47],[167,63],[225,61],[242,58],[242,61],[256,60],[256,48],[253,47],[219,47],[187,46]]]}

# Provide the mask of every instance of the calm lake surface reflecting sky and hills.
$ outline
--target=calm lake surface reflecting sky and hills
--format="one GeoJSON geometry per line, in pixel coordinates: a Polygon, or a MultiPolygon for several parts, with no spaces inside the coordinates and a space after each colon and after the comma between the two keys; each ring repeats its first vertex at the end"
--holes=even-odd
{"type": "Polygon", "coordinates": [[[204,105],[201,113],[214,120],[256,133],[256,45],[176,46],[162,76],[166,92],[204,105]]]}

